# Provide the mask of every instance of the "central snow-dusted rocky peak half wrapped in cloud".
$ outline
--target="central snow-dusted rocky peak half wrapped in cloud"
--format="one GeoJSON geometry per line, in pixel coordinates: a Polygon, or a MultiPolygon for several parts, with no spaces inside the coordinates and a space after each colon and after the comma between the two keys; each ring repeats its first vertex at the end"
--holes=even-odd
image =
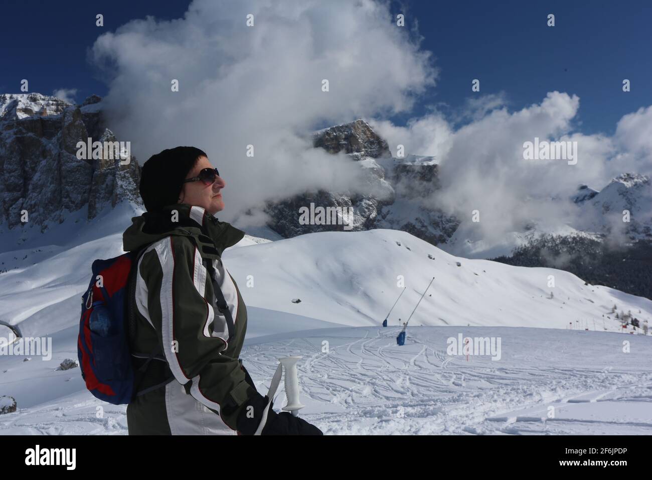
{"type": "Polygon", "coordinates": [[[439,187],[434,157],[392,157],[387,141],[366,121],[357,119],[314,132],[315,148],[345,153],[363,172],[364,191],[316,191],[269,204],[269,227],[285,238],[316,231],[341,230],[338,225],[300,225],[297,212],[311,202],[318,206],[353,208],[353,231],[396,229],[434,245],[445,242],[458,221],[424,204],[424,197],[439,187]]]}

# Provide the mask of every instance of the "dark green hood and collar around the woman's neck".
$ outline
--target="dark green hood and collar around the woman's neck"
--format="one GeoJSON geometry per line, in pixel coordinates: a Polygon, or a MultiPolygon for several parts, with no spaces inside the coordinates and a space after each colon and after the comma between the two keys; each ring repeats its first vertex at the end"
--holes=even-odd
{"type": "Polygon", "coordinates": [[[123,250],[133,251],[146,244],[157,242],[171,234],[199,236],[204,234],[213,240],[218,255],[244,236],[244,232],[230,223],[219,221],[205,208],[185,203],[164,206],[157,212],[145,212],[132,217],[132,225],[123,233],[123,250]],[[172,221],[173,210],[179,212],[178,221],[172,221]]]}

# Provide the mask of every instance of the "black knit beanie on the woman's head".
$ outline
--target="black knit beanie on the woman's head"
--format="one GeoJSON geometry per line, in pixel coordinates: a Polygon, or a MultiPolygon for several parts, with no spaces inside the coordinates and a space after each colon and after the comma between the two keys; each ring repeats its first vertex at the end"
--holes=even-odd
{"type": "Polygon", "coordinates": [[[183,180],[199,157],[208,157],[199,148],[168,148],[149,157],[140,172],[140,197],[147,212],[179,202],[183,180]]]}

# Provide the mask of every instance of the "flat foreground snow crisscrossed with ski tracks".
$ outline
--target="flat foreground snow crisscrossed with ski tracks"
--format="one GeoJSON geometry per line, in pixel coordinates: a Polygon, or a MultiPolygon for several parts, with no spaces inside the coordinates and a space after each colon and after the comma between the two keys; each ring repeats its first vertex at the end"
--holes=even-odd
{"type": "MultiPolygon", "coordinates": [[[[652,434],[650,336],[409,327],[406,344],[398,346],[399,331],[343,327],[259,337],[245,343],[241,358],[265,394],[277,359],[301,355],[306,407],[299,415],[325,434],[652,434]],[[501,359],[447,355],[447,338],[458,333],[500,337],[501,359]],[[625,340],[631,353],[623,353],[625,340]]],[[[18,368],[20,362],[12,370],[18,368]]],[[[76,380],[76,371],[56,373],[61,381],[76,380]]],[[[2,415],[0,434],[126,434],[125,407],[80,387],[2,415]]],[[[281,392],[274,409],[284,404],[281,392]]]]}

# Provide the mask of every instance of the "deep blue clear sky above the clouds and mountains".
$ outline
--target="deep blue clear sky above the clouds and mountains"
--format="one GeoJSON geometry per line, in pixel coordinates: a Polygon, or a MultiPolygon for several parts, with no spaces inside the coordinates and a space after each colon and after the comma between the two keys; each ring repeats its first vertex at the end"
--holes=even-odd
{"type": "MultiPolygon", "coordinates": [[[[105,95],[108,87],[87,61],[87,48],[105,31],[115,31],[133,18],[153,15],[180,18],[184,1],[68,1],[67,8],[50,1],[3,1],[0,29],[0,92],[18,93],[20,80],[30,91],[51,94],[77,89],[74,99],[105,95]],[[104,14],[103,29],[95,14],[104,14]]],[[[428,105],[443,112],[459,110],[472,97],[471,79],[481,80],[483,94],[502,93],[510,110],[540,103],[548,91],[580,97],[575,121],[586,134],[611,135],[629,112],[652,104],[652,46],[649,1],[485,1],[393,2],[392,10],[415,19],[439,68],[430,88],[412,112],[389,118],[402,125],[421,116],[428,105]],[[404,5],[404,7],[402,6],[404,5]],[[556,26],[546,26],[546,15],[556,26]],[[623,93],[629,78],[632,91],[623,93]]]]}

